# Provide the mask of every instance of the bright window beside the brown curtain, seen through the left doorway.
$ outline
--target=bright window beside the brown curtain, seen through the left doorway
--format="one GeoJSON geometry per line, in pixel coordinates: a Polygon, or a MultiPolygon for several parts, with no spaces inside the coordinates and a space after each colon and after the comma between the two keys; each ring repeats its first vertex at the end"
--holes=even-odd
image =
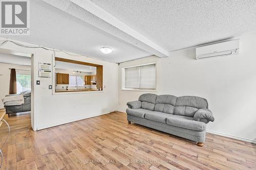
{"type": "Polygon", "coordinates": [[[16,72],[17,94],[31,90],[31,72],[25,70],[16,70],[16,72]]]}

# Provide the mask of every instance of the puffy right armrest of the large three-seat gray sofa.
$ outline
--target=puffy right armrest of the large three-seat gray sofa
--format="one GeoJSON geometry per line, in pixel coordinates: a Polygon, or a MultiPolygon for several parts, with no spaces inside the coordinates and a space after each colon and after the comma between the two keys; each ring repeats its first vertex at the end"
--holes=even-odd
{"type": "Polygon", "coordinates": [[[209,109],[198,109],[194,115],[194,120],[207,124],[210,121],[214,122],[214,116],[209,109]]]}

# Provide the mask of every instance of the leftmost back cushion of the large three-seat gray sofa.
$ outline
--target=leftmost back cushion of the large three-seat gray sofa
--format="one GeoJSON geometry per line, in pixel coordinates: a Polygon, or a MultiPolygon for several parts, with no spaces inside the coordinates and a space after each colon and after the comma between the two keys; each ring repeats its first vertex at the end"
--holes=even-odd
{"type": "Polygon", "coordinates": [[[141,108],[154,111],[155,105],[156,105],[156,99],[157,99],[156,94],[146,93],[146,94],[140,95],[139,101],[141,101],[141,108]]]}

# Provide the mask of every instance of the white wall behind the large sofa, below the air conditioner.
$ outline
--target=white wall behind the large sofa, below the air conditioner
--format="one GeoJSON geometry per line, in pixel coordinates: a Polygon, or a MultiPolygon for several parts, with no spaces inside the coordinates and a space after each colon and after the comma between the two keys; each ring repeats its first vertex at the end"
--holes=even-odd
{"type": "MultiPolygon", "coordinates": [[[[208,100],[215,122],[207,130],[256,140],[256,34],[240,37],[240,54],[197,61],[195,48],[171,57],[149,57],[121,63],[121,68],[157,61],[156,94],[197,95],[208,100]]],[[[144,92],[122,91],[119,76],[119,108],[138,100],[144,92]]],[[[153,92],[151,92],[153,93],[153,92]]]]}

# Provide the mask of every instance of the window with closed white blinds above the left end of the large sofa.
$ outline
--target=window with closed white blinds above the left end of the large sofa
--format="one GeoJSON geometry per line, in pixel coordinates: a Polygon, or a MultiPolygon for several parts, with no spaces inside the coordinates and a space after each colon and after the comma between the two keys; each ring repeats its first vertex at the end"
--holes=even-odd
{"type": "Polygon", "coordinates": [[[125,89],[156,89],[156,64],[124,68],[125,89]]]}

